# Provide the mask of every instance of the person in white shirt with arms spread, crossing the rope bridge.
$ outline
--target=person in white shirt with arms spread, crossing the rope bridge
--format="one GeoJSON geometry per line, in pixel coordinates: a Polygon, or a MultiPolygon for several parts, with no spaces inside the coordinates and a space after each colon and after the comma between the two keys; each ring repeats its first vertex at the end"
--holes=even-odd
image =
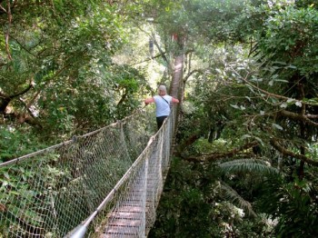
{"type": "Polygon", "coordinates": [[[178,104],[179,100],[168,95],[166,87],[160,85],[158,95],[144,99],[144,104],[155,104],[155,117],[158,125],[158,130],[164,124],[164,119],[170,114],[170,104],[178,104]]]}

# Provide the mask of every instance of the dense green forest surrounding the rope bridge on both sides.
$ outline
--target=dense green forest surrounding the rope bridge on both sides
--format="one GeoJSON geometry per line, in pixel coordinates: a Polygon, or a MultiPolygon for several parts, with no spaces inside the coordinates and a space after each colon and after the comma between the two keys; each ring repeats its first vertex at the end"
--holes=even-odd
{"type": "Polygon", "coordinates": [[[318,236],[316,0],[0,0],[0,25],[0,163],[178,86],[149,237],[318,236]]]}

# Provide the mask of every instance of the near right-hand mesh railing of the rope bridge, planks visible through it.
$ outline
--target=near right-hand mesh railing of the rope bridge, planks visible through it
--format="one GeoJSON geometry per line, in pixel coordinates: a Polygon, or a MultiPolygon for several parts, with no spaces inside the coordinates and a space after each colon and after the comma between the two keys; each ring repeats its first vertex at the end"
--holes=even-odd
{"type": "Polygon", "coordinates": [[[67,237],[84,237],[84,233],[89,237],[144,237],[149,232],[169,170],[175,117],[176,108],[111,193],[67,237]],[[94,229],[87,232],[89,226],[94,229]]]}

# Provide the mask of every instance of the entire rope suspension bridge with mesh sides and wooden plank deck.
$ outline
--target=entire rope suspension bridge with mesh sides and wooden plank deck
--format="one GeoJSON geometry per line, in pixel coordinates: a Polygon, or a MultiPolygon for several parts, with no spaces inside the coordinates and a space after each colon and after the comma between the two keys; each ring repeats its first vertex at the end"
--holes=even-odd
{"type": "Polygon", "coordinates": [[[0,164],[0,237],[145,237],[170,164],[176,110],[141,109],[0,164]]]}

